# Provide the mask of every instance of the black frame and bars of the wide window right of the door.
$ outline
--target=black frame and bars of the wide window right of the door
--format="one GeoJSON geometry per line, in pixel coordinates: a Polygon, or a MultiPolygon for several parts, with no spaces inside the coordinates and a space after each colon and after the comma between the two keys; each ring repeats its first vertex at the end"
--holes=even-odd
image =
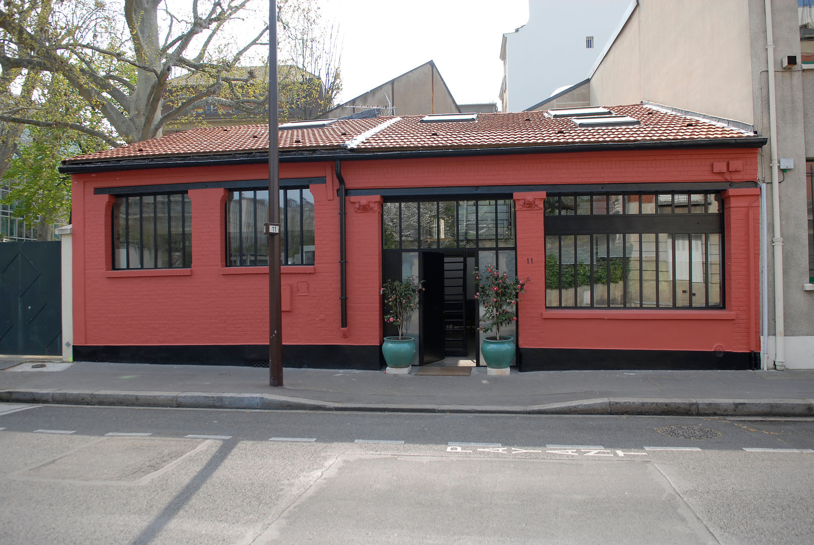
{"type": "MultiPolygon", "coordinates": [[[[602,210],[600,207],[599,210],[602,210]]],[[[557,304],[550,304],[548,297],[549,291],[549,282],[546,281],[546,301],[545,307],[549,309],[606,309],[606,310],[690,310],[690,309],[698,309],[698,310],[722,310],[726,307],[725,303],[725,253],[724,253],[724,207],[723,207],[723,198],[719,191],[710,191],[710,190],[663,190],[663,191],[615,191],[615,190],[604,190],[599,192],[584,192],[584,193],[558,193],[558,194],[549,194],[549,196],[545,199],[545,220],[544,220],[544,229],[545,229],[545,257],[546,257],[546,266],[548,267],[549,263],[549,237],[558,237],[558,280],[563,277],[563,253],[562,253],[562,237],[572,237],[573,244],[574,244],[574,286],[563,286],[562,281],[558,281],[558,301],[557,304]],[[654,195],[654,211],[653,212],[643,212],[641,211],[641,204],[642,204],[642,197],[654,195]],[[703,211],[693,211],[693,198],[696,195],[703,195],[703,211]],[[610,206],[607,204],[604,206],[604,211],[595,213],[595,203],[597,200],[602,203],[602,197],[605,198],[605,203],[610,203],[611,196],[620,196],[622,200],[622,206],[619,207],[618,211],[611,211],[610,206]],[[638,207],[637,211],[635,212],[628,212],[625,211],[625,198],[626,197],[637,197],[638,207]],[[664,202],[668,204],[659,205],[661,199],[659,196],[667,197],[669,196],[669,200],[667,198],[664,199],[664,202]],[[676,198],[676,196],[681,196],[681,199],[676,198]],[[597,197],[599,199],[597,199],[597,197]],[[580,200],[580,198],[582,198],[580,200]],[[587,201],[585,200],[587,198],[587,201]],[[684,198],[686,200],[684,200],[684,198]],[[569,200],[566,200],[569,199],[569,200]],[[683,203],[681,203],[683,201],[683,203]],[[717,207],[717,211],[710,211],[712,207],[712,203],[715,203],[717,207]],[[580,203],[583,203],[583,212],[580,213],[580,203]],[[676,208],[684,207],[686,203],[687,210],[686,211],[676,211],[676,208]],[[563,206],[565,204],[565,206],[563,206]],[[663,210],[659,210],[659,207],[662,206],[663,210]],[[669,210],[667,210],[669,209],[669,210]],[[587,210],[587,213],[585,213],[587,210]],[[655,306],[653,305],[645,305],[644,297],[642,296],[643,290],[643,269],[641,268],[641,260],[642,260],[642,241],[645,235],[654,235],[654,245],[656,251],[656,286],[655,286],[655,306]],[[611,247],[610,247],[610,238],[611,236],[618,236],[621,235],[623,237],[622,246],[622,278],[624,282],[624,290],[623,290],[623,300],[621,305],[619,304],[612,304],[611,296],[610,296],[610,283],[611,283],[611,247]],[[626,238],[627,235],[638,235],[638,245],[639,245],[639,262],[640,262],[640,271],[638,276],[638,283],[639,283],[639,301],[638,306],[628,305],[628,278],[625,275],[624,271],[627,267],[627,259],[632,257],[627,255],[627,242],[626,238]],[[659,267],[658,267],[658,252],[659,252],[659,242],[660,242],[660,235],[666,235],[665,241],[671,241],[672,243],[668,246],[670,248],[670,253],[672,255],[669,256],[671,259],[671,269],[672,269],[672,303],[670,305],[663,304],[662,301],[659,301],[659,267]],[[719,304],[710,304],[711,299],[711,290],[710,290],[710,275],[709,272],[709,255],[710,255],[710,242],[709,236],[710,235],[717,235],[718,236],[718,245],[719,245],[719,253],[718,253],[718,275],[720,281],[720,293],[717,294],[719,304]],[[589,265],[589,284],[590,288],[590,301],[588,304],[578,304],[577,303],[577,290],[576,288],[579,286],[583,286],[579,283],[578,280],[578,266],[579,264],[576,263],[577,260],[577,246],[578,246],[578,238],[579,237],[589,236],[590,243],[593,245],[595,237],[602,237],[604,236],[606,239],[606,254],[605,254],[605,263],[604,269],[606,277],[603,277],[601,281],[595,282],[594,281],[594,273],[595,269],[599,268],[599,264],[594,263],[594,256],[593,251],[591,251],[590,263],[589,265]],[[705,269],[704,273],[704,281],[703,284],[705,286],[705,293],[703,295],[702,302],[695,301],[695,296],[693,294],[692,286],[694,283],[693,275],[692,275],[692,268],[693,268],[693,242],[695,237],[702,236],[702,251],[704,252],[704,263],[707,263],[707,268],[705,269]],[[677,260],[676,260],[676,240],[680,240],[678,237],[686,237],[687,242],[689,242],[689,249],[688,249],[688,256],[689,256],[689,295],[688,305],[679,305],[677,302],[676,297],[676,289],[677,289],[677,282],[676,282],[676,269],[677,269],[677,260]],[[606,303],[603,305],[597,304],[595,301],[595,294],[593,286],[597,284],[606,284],[607,286],[607,297],[606,303]],[[563,304],[563,290],[571,290],[573,288],[575,290],[574,293],[574,302],[573,304],[563,304]],[[702,304],[699,304],[702,303],[702,304]]],[[[593,246],[592,246],[593,247],[593,246]]],[[[570,250],[569,255],[570,255],[570,250]]],[[[582,264],[580,262],[580,264],[582,264]]],[[[584,264],[583,264],[584,265],[584,264]]],[[[548,271],[546,271],[548,275],[548,271]]],[[[554,288],[552,288],[554,289],[554,288]]]]}

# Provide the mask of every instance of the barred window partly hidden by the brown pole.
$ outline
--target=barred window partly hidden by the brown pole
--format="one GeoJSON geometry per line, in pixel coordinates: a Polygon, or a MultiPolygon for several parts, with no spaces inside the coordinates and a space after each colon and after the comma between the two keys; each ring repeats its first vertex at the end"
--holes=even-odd
{"type": "MultiPolygon", "coordinates": [[[[230,191],[226,204],[226,264],[268,266],[269,242],[263,225],[269,220],[269,191],[230,191]]],[[[280,263],[314,263],[314,219],[311,190],[280,190],[280,263]]]]}

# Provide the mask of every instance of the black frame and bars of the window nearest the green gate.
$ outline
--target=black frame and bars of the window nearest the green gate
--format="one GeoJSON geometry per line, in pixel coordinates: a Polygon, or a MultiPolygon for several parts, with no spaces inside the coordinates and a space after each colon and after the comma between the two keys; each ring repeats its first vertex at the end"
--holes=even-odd
{"type": "MultiPolygon", "coordinates": [[[[191,268],[192,267],[192,201],[190,199],[189,193],[187,191],[157,191],[155,193],[144,193],[138,192],[136,194],[116,194],[112,209],[111,209],[111,270],[114,271],[134,271],[134,270],[161,270],[161,269],[174,269],[174,268],[191,268]],[[164,196],[167,198],[167,255],[168,255],[168,267],[158,267],[158,197],[164,196]],[[180,204],[181,204],[181,216],[180,216],[180,225],[181,225],[181,232],[180,232],[180,239],[181,239],[181,263],[178,265],[173,265],[173,240],[176,238],[177,233],[173,233],[173,216],[172,216],[172,204],[173,204],[173,196],[180,197],[180,204]],[[130,199],[138,198],[138,247],[139,247],[139,259],[138,259],[138,267],[130,266],[130,252],[129,252],[129,207],[130,207],[130,199]],[[152,198],[153,203],[153,266],[152,267],[145,267],[144,266],[144,199],[145,198],[152,198]],[[125,241],[127,241],[127,246],[125,247],[125,266],[116,266],[116,250],[120,250],[121,247],[116,246],[116,242],[120,242],[116,240],[116,222],[119,220],[120,216],[116,214],[117,210],[120,210],[120,207],[116,205],[116,202],[123,200],[124,208],[125,208],[125,226],[124,226],[124,233],[125,233],[125,241]],[[117,217],[118,216],[118,217],[117,217]],[[189,233],[187,233],[186,223],[187,223],[187,216],[189,216],[189,233]],[[190,240],[187,243],[187,234],[190,235],[190,240]],[[189,257],[187,258],[187,251],[189,251],[189,257]]],[[[121,233],[121,226],[119,226],[119,230],[121,233]]],[[[120,234],[121,237],[121,234],[120,234]]]]}

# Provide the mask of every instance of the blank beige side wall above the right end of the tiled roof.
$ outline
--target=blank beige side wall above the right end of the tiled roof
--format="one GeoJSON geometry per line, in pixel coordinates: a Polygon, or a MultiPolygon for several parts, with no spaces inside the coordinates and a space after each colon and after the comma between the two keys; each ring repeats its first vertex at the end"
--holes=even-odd
{"type": "Polygon", "coordinates": [[[746,0],[640,0],[593,73],[591,103],[646,100],[751,124],[749,30],[746,0]]]}

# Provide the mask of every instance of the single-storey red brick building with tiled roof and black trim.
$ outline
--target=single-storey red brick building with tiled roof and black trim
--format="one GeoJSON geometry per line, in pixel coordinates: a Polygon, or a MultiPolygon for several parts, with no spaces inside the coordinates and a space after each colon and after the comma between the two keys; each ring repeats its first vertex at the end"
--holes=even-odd
{"type": "MultiPolygon", "coordinates": [[[[755,364],[763,137],[642,105],[305,123],[280,132],[286,366],[379,369],[379,288],[407,276],[416,363],[479,362],[485,264],[531,278],[520,370],[755,364]]],[[[63,163],[75,359],[267,361],[267,142],[194,129],[63,163]]]]}

